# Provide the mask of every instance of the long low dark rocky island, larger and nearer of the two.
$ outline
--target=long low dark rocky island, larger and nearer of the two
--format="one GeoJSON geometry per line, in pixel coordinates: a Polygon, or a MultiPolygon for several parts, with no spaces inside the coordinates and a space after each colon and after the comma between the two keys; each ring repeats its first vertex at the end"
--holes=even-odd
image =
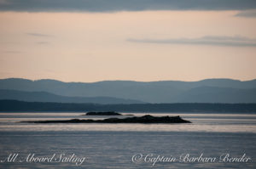
{"type": "Polygon", "coordinates": [[[71,120],[61,120],[61,121],[20,121],[20,122],[32,122],[32,123],[191,123],[190,121],[183,120],[180,116],[153,116],[153,115],[143,115],[143,116],[134,116],[127,118],[108,118],[103,120],[80,120],[80,119],[71,119],[71,120]]]}

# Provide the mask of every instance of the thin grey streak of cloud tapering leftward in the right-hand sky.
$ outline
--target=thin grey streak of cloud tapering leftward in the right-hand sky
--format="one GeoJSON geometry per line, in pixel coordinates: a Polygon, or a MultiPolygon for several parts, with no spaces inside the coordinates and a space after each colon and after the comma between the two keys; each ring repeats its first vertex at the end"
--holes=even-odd
{"type": "Polygon", "coordinates": [[[128,42],[160,43],[160,44],[188,44],[188,45],[212,45],[232,47],[256,47],[256,39],[247,37],[217,37],[207,36],[199,38],[178,39],[127,39],[128,42]]]}

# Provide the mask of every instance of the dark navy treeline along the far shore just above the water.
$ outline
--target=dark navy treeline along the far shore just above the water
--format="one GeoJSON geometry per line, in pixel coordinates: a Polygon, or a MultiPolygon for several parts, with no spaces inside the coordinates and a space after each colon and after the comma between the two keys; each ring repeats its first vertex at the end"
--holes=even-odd
{"type": "Polygon", "coordinates": [[[61,104],[0,100],[0,111],[255,112],[256,104],[61,104]]]}

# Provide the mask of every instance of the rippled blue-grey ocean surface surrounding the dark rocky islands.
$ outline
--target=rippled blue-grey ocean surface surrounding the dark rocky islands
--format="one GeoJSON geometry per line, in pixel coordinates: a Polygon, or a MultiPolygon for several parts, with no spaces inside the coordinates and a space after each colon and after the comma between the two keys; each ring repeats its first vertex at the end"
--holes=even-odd
{"type": "Polygon", "coordinates": [[[0,113],[0,168],[256,168],[256,113],[150,115],[192,123],[33,124],[20,121],[109,116],[0,113]]]}

